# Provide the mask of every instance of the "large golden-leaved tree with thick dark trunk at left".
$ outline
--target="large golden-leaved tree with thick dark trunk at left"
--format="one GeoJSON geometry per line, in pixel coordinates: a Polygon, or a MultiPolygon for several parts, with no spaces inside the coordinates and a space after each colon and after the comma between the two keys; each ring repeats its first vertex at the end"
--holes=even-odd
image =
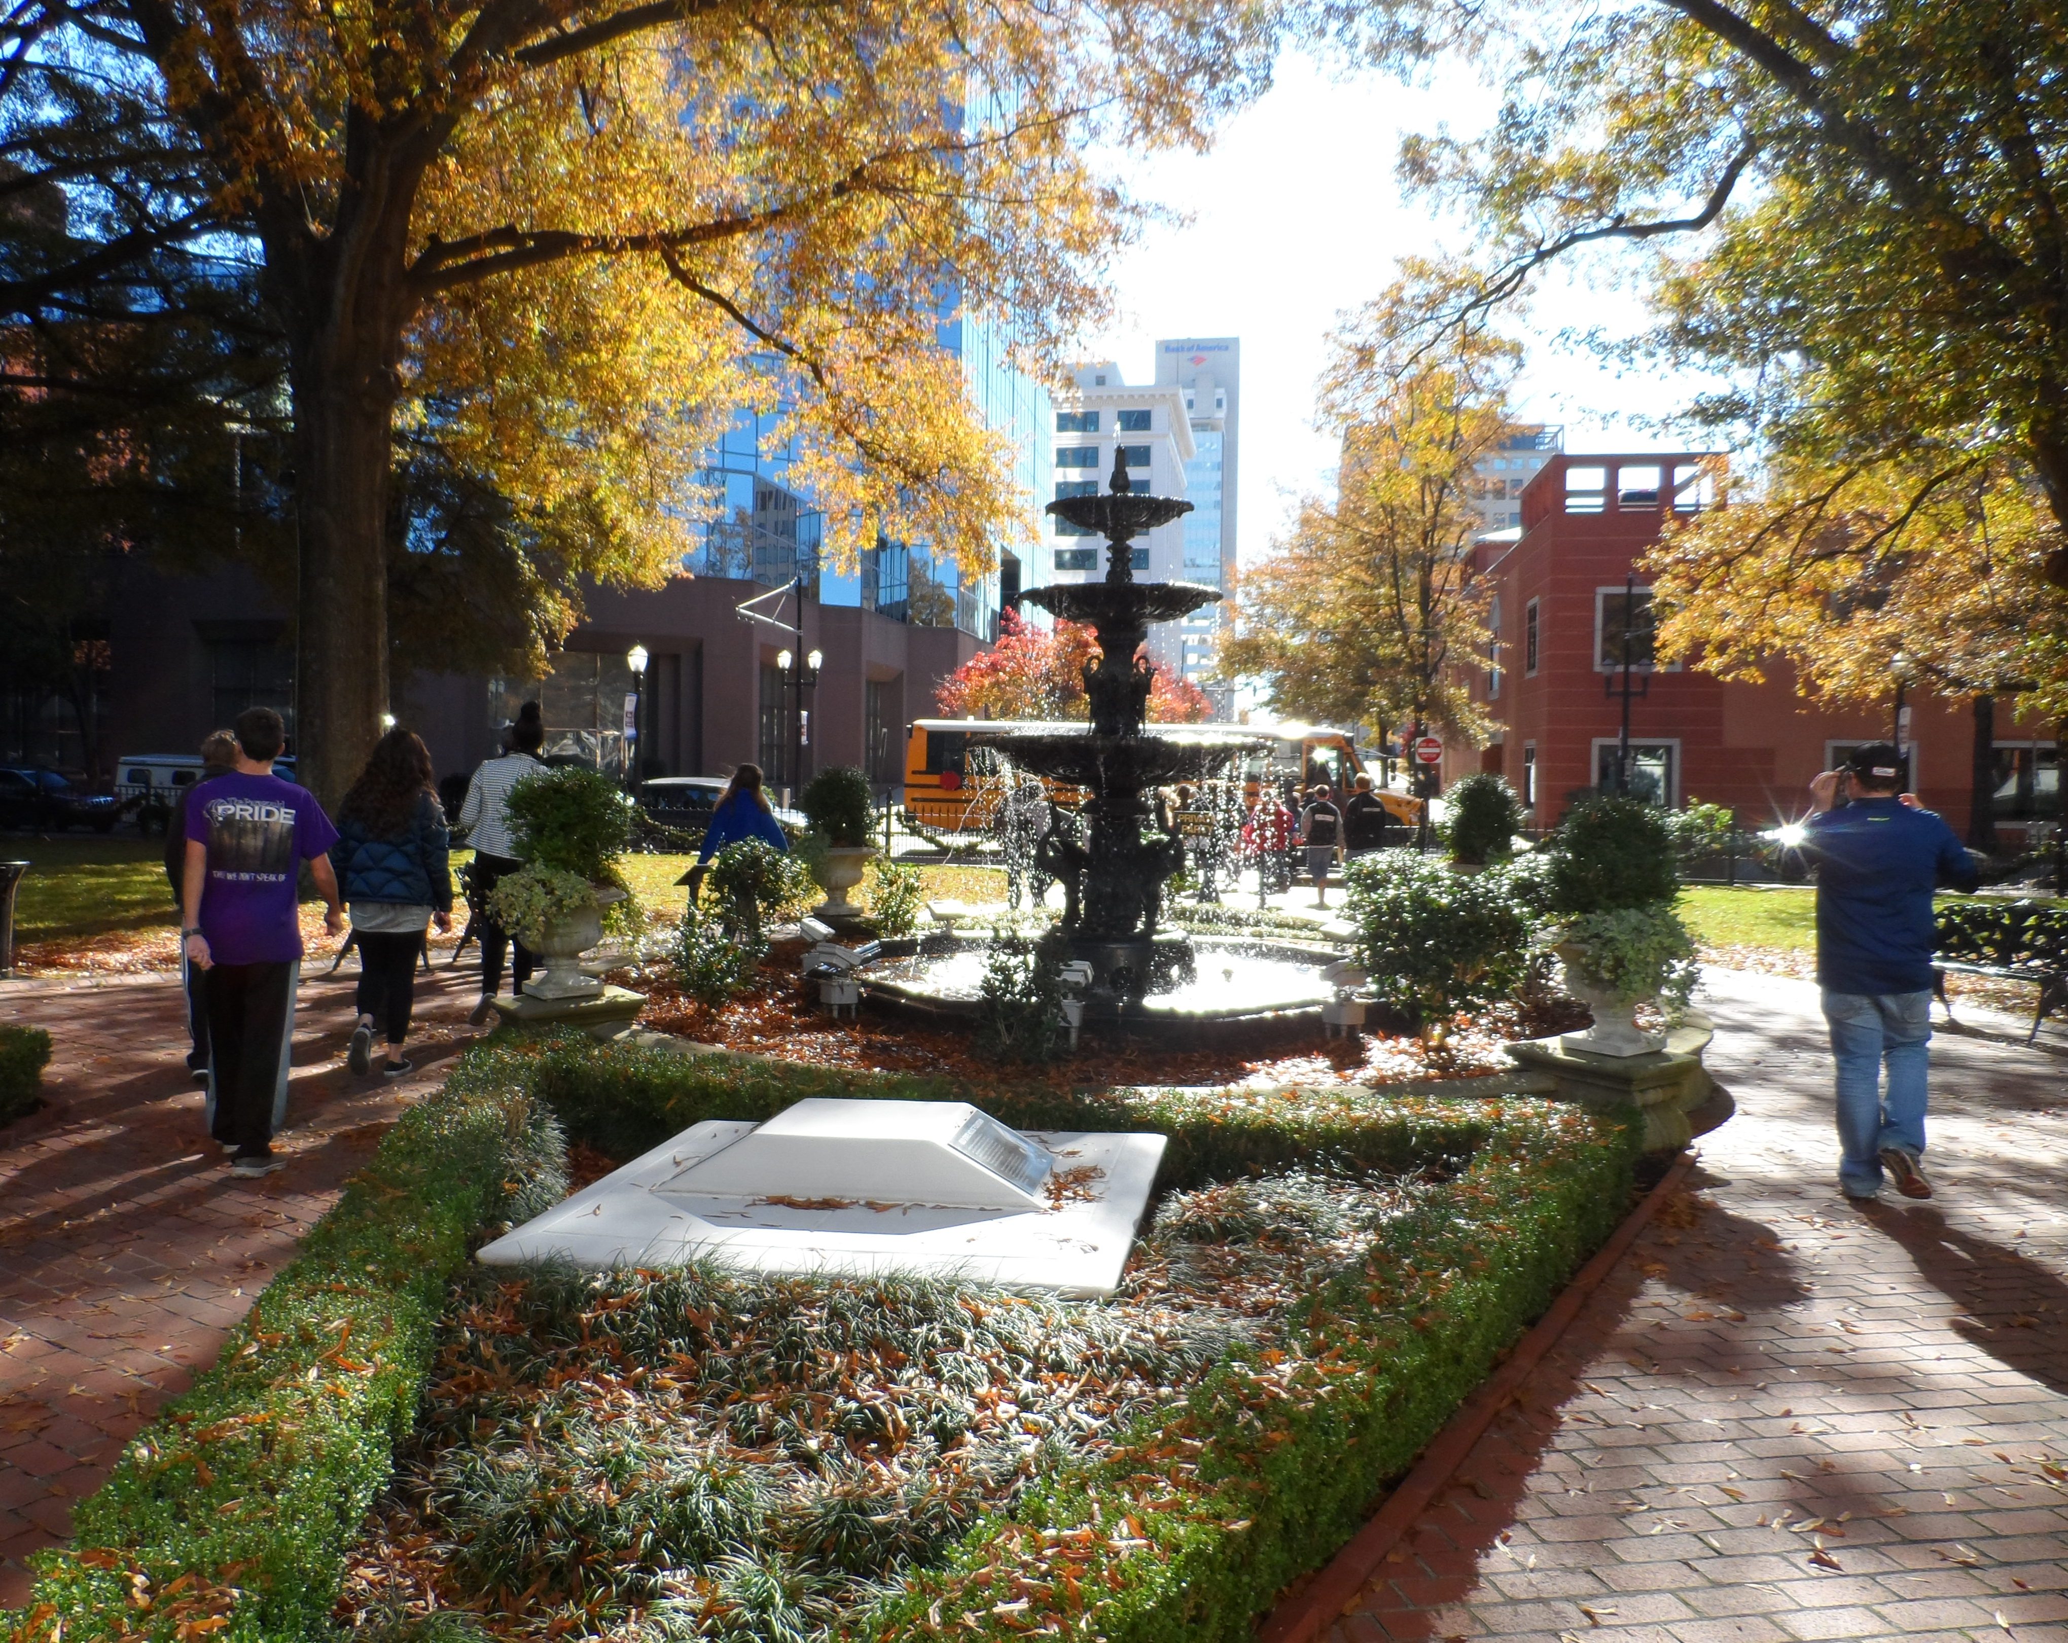
{"type": "Polygon", "coordinates": [[[25,0],[0,192],[58,188],[77,229],[0,267],[0,314],[168,252],[256,279],[335,796],[389,705],[397,438],[569,572],[651,585],[713,436],[782,409],[835,560],[891,533],[982,566],[1028,498],[943,318],[1053,362],[1129,223],[1088,141],[1197,143],[1259,72],[1216,0],[25,0]]]}

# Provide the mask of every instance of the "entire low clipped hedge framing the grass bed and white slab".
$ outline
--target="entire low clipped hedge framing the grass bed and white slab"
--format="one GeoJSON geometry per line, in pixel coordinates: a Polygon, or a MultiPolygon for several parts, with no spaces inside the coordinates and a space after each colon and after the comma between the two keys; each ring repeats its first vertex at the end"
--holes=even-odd
{"type": "Polygon", "coordinates": [[[1282,1350],[1233,1354],[1175,1416],[1036,1484],[848,1637],[1247,1637],[1348,1540],[1630,1201],[1634,1126],[1530,1099],[1359,1091],[960,1089],[943,1079],[583,1040],[478,1050],[383,1143],[223,1362],[124,1453],[41,1558],[17,1639],[308,1637],[393,1469],[447,1283],[562,1188],[558,1137],[629,1157],[804,1095],[974,1099],[1020,1128],[1158,1128],[1162,1184],[1340,1159],[1439,1168],[1282,1350]]]}

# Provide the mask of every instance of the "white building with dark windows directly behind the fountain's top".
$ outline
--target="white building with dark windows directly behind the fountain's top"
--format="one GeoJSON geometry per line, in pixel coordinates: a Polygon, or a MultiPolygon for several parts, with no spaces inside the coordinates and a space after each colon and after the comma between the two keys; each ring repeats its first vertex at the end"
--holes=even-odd
{"type": "MultiPolygon", "coordinates": [[[[1127,484],[1152,496],[1189,496],[1187,463],[1195,446],[1185,395],[1170,386],[1129,386],[1111,360],[1077,366],[1073,384],[1055,395],[1055,494],[1092,496],[1106,488],[1115,451],[1127,459],[1127,484]]],[[[1158,525],[1133,541],[1137,581],[1185,581],[1185,521],[1158,525]]],[[[1048,581],[1096,583],[1106,575],[1104,544],[1046,517],[1044,554],[1048,581]]],[[[1150,655],[1158,665],[1181,668],[1179,624],[1150,628],[1150,655]]]]}

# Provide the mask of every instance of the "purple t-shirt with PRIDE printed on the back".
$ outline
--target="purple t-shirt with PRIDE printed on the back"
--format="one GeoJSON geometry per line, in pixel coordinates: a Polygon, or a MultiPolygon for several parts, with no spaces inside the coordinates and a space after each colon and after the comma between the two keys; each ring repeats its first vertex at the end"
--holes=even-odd
{"type": "Polygon", "coordinates": [[[316,796],[277,775],[219,775],[186,794],[186,837],[209,847],[201,934],[219,965],[302,957],[296,880],[337,843],[316,796]]]}

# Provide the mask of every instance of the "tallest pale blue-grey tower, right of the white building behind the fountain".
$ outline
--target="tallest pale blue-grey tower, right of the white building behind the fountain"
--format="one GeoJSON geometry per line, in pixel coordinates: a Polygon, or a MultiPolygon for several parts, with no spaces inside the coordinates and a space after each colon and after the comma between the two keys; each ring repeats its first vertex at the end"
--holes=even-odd
{"type": "MultiPolygon", "coordinates": [[[[1235,488],[1243,430],[1243,343],[1239,337],[1164,337],[1156,343],[1156,382],[1185,395],[1193,455],[1185,463],[1183,579],[1235,593],[1235,488]]],[[[1177,624],[1179,665],[1204,684],[1214,672],[1214,641],[1230,618],[1226,601],[1193,612],[1177,624]]],[[[1216,717],[1233,717],[1233,692],[1206,686],[1216,717]]]]}

